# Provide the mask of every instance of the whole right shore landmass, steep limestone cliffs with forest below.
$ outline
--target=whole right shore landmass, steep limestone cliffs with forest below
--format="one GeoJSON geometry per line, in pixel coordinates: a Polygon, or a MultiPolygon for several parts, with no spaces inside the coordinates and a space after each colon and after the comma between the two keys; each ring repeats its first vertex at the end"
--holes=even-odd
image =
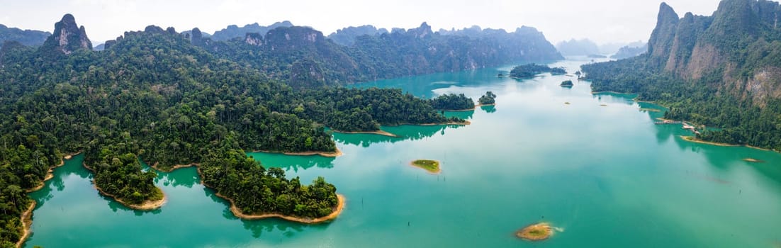
{"type": "Polygon", "coordinates": [[[778,2],[724,0],[713,16],[679,18],[662,3],[647,53],[583,72],[594,91],[635,93],[668,107],[665,119],[719,128],[695,140],[781,151],[778,9],[778,2]]]}

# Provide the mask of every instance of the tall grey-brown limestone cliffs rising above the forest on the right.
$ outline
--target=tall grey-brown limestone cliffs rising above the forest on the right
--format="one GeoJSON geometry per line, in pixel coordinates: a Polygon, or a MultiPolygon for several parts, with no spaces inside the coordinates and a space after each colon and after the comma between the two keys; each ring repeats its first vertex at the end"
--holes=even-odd
{"type": "Polygon", "coordinates": [[[647,65],[765,105],[781,97],[779,17],[779,3],[767,0],[723,0],[713,16],[686,13],[682,19],[662,3],[647,65]]]}

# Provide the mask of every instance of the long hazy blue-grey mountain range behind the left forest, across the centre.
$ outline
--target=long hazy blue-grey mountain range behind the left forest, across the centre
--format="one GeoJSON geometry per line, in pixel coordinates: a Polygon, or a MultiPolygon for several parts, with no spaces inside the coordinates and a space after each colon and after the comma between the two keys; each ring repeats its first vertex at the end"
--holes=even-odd
{"type": "MultiPolygon", "coordinates": [[[[294,87],[316,87],[423,73],[451,72],[515,62],[562,59],[539,31],[477,30],[435,33],[423,23],[414,29],[348,27],[324,37],[311,27],[284,27],[265,34],[216,41],[193,35],[192,44],[225,59],[263,69],[294,87]],[[339,42],[337,42],[339,41],[339,42]]],[[[217,34],[221,33],[216,33],[217,34]]],[[[185,37],[187,35],[185,34],[185,37]]]]}

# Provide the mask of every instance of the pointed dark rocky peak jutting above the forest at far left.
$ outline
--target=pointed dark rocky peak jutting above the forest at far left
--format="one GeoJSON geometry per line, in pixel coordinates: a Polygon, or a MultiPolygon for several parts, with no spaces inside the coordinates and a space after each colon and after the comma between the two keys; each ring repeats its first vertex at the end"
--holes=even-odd
{"type": "Polygon", "coordinates": [[[46,39],[41,49],[59,51],[69,55],[79,49],[92,50],[92,43],[87,38],[84,26],[79,27],[73,15],[66,14],[59,22],[55,23],[54,33],[46,39]]]}

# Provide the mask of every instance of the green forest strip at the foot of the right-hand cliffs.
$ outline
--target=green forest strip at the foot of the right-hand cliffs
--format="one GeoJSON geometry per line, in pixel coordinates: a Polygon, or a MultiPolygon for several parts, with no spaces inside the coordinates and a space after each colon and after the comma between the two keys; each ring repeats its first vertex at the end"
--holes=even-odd
{"type": "Polygon", "coordinates": [[[647,55],[618,62],[583,66],[594,91],[636,93],[637,99],[669,108],[665,119],[695,122],[719,129],[703,130],[697,138],[717,143],[749,144],[781,150],[781,101],[772,99],[760,108],[749,99],[719,94],[714,85],[721,75],[712,73],[694,83],[658,73],[644,64],[647,55]]]}

